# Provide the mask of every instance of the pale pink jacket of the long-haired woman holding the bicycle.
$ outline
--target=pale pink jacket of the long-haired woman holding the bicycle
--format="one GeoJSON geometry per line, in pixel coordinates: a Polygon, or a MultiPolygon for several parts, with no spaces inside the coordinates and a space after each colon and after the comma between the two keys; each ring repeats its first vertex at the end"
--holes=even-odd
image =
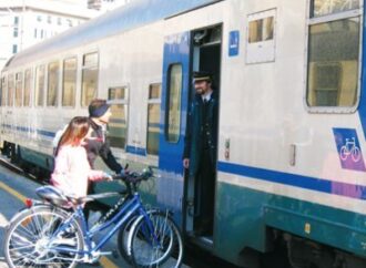
{"type": "Polygon", "coordinates": [[[84,147],[64,145],[55,157],[51,184],[65,194],[81,197],[87,195],[89,181],[104,177],[102,171],[91,169],[84,147]]]}

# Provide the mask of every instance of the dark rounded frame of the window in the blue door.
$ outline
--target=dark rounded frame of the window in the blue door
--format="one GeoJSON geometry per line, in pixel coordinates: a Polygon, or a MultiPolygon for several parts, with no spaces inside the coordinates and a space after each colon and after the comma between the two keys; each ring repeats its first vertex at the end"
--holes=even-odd
{"type": "Polygon", "coordinates": [[[165,100],[166,112],[165,112],[165,118],[164,118],[164,121],[165,121],[164,122],[164,138],[167,143],[177,144],[181,138],[181,127],[182,127],[181,111],[182,111],[182,94],[183,94],[183,92],[182,92],[183,91],[183,64],[181,62],[170,64],[166,79],[167,79],[167,81],[166,81],[167,89],[166,89],[166,100],[165,100]],[[171,115],[171,109],[170,109],[171,105],[170,104],[171,104],[171,92],[172,92],[172,70],[174,66],[179,66],[181,69],[181,72],[180,72],[181,83],[180,83],[180,91],[179,91],[180,97],[179,97],[179,103],[176,105],[177,111],[179,111],[177,112],[179,123],[175,124],[176,128],[177,128],[177,135],[174,140],[171,140],[170,135],[173,135],[173,134],[170,134],[170,128],[173,125],[173,123],[170,122],[170,115],[171,115]]]}

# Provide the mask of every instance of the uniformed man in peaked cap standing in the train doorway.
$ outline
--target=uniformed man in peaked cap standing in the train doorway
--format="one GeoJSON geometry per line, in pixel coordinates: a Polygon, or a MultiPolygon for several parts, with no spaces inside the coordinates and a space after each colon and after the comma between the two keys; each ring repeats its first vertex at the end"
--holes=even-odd
{"type": "Polygon", "coordinates": [[[195,72],[193,79],[196,93],[189,113],[183,166],[189,169],[195,182],[195,233],[211,235],[214,216],[218,99],[212,87],[210,73],[195,72]]]}

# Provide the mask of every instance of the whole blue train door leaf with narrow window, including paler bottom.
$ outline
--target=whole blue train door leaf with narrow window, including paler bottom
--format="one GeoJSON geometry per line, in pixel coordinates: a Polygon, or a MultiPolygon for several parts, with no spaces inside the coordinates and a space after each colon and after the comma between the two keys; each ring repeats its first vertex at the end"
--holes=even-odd
{"type": "Polygon", "coordinates": [[[169,35],[164,40],[163,81],[160,124],[156,198],[161,206],[174,210],[182,219],[184,134],[190,91],[190,32],[169,35]]]}

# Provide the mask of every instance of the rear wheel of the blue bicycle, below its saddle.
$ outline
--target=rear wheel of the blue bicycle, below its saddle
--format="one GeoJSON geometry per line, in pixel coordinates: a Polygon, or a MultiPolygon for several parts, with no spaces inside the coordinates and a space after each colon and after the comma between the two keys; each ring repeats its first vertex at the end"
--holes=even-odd
{"type": "Polygon", "coordinates": [[[83,235],[77,221],[72,221],[68,231],[58,227],[69,214],[54,207],[32,207],[16,215],[6,230],[4,257],[10,268],[16,267],[60,267],[73,268],[77,254],[52,250],[51,245],[70,249],[83,249],[83,235]],[[54,237],[54,234],[58,235],[54,237]],[[50,239],[52,237],[52,239],[50,239]]]}

